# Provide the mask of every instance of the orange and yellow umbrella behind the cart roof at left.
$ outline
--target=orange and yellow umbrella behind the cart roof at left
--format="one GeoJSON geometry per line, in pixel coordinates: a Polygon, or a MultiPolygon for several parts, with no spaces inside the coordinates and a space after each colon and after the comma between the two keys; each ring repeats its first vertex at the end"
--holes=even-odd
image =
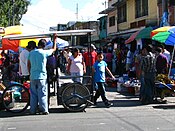
{"type": "MultiPolygon", "coordinates": [[[[32,31],[30,28],[24,27],[24,26],[9,26],[5,28],[5,33],[4,35],[16,35],[16,34],[28,34],[30,32],[36,32],[32,31]]],[[[18,51],[18,47],[23,47],[25,48],[28,44],[29,41],[35,41],[38,43],[38,39],[25,39],[25,40],[9,40],[9,39],[4,39],[2,38],[2,49],[3,50],[13,50],[13,51],[18,51]]]]}

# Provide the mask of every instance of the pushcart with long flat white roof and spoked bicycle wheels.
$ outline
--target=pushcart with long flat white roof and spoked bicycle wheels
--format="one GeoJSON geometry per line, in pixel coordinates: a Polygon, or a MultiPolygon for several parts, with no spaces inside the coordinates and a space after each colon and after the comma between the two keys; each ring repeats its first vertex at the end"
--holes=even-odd
{"type": "MultiPolygon", "coordinates": [[[[53,31],[53,32],[48,32],[48,33],[41,33],[41,34],[18,34],[18,35],[6,35],[3,37],[3,39],[7,40],[23,40],[23,39],[36,39],[36,38],[49,38],[52,37],[53,34],[57,34],[57,37],[60,36],[81,36],[81,35],[87,35],[87,37],[91,37],[91,33],[94,32],[94,30],[90,29],[84,29],[84,30],[70,30],[70,31],[53,31]]],[[[90,42],[88,44],[88,47],[91,46],[91,38],[89,38],[90,42]]],[[[90,49],[90,48],[88,48],[90,49]]],[[[57,65],[58,66],[58,65],[57,65]]],[[[83,76],[80,76],[83,77],[83,76]]],[[[91,76],[86,76],[89,79],[91,79],[91,76]]],[[[80,83],[62,83],[60,84],[60,79],[71,79],[72,76],[60,76],[58,72],[58,68],[56,68],[56,87],[57,87],[57,103],[58,105],[63,105],[66,109],[69,111],[83,111],[89,103],[92,104],[91,102],[91,97],[93,95],[93,84],[91,83],[90,85],[82,85],[80,83]]],[[[92,81],[91,81],[92,82],[92,81]]],[[[24,87],[24,89],[26,89],[24,87]]],[[[5,91],[6,92],[11,92],[13,93],[13,88],[8,88],[5,91]]],[[[6,95],[3,95],[4,102],[3,104],[6,104],[6,95]]],[[[13,102],[22,102],[21,100],[19,101],[13,101],[13,102]]],[[[29,101],[28,101],[29,102],[29,101]]],[[[8,101],[9,105],[9,101],[8,101]]],[[[5,107],[7,110],[13,110],[14,108],[8,108],[8,105],[5,107]]],[[[27,109],[28,103],[25,106],[24,109],[21,111],[24,111],[27,109]]]]}

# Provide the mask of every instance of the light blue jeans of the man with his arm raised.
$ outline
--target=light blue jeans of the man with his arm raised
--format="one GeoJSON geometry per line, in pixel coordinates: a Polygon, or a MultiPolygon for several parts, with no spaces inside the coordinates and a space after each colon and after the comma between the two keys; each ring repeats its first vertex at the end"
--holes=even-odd
{"type": "Polygon", "coordinates": [[[30,112],[36,113],[39,104],[41,112],[48,112],[47,80],[30,81],[30,112]]]}

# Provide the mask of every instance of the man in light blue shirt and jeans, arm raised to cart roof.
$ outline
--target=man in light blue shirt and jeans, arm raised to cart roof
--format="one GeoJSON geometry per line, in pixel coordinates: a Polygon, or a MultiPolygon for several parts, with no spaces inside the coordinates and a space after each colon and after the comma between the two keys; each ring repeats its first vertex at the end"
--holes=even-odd
{"type": "Polygon", "coordinates": [[[38,42],[38,49],[32,50],[28,57],[28,70],[30,73],[30,113],[36,114],[38,104],[39,113],[48,115],[48,86],[47,86],[47,57],[56,51],[56,34],[52,49],[44,50],[46,40],[38,42]]]}

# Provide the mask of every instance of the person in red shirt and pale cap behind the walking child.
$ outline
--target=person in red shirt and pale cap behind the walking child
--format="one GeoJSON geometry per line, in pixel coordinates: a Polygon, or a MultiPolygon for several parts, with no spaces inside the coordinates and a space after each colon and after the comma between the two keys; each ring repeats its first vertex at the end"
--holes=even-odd
{"type": "MultiPolygon", "coordinates": [[[[97,60],[97,52],[95,51],[95,45],[91,44],[90,52],[89,50],[83,54],[85,65],[86,65],[86,73],[85,75],[90,76],[92,66],[94,65],[95,61],[97,60]]],[[[84,79],[83,83],[87,83],[88,80],[84,79]]]]}

